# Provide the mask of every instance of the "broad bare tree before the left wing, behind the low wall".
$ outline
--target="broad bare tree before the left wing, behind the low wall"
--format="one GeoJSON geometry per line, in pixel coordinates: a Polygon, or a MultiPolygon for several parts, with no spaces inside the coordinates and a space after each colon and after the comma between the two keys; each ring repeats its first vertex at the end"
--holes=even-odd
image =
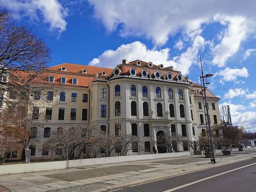
{"type": "Polygon", "coordinates": [[[72,125],[59,128],[43,144],[43,150],[53,150],[62,160],[78,159],[81,153],[101,140],[96,125],[72,125]]]}

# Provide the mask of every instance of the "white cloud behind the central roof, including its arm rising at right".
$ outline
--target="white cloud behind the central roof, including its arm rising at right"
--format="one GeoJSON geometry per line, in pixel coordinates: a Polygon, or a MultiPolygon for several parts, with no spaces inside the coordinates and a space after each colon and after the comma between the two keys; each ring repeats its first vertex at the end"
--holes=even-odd
{"type": "Polygon", "coordinates": [[[205,40],[201,36],[197,36],[193,45],[189,47],[180,56],[169,59],[169,48],[162,50],[150,50],[142,42],[132,42],[130,44],[121,45],[116,50],[106,50],[98,58],[93,58],[89,65],[114,68],[117,64],[121,64],[123,58],[128,61],[140,59],[143,61],[151,61],[155,65],[160,63],[164,67],[173,66],[175,70],[181,71],[183,75],[189,73],[189,68],[196,62],[196,55],[199,49],[205,45],[205,40]]]}

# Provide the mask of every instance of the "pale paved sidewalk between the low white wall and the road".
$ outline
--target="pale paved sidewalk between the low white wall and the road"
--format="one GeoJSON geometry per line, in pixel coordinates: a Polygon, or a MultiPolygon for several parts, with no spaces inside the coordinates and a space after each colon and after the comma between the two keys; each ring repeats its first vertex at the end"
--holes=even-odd
{"type": "Polygon", "coordinates": [[[88,192],[108,191],[157,179],[183,175],[252,159],[256,150],[232,152],[231,156],[216,154],[216,164],[202,155],[153,159],[65,170],[41,171],[0,176],[0,192],[88,192]],[[3,187],[1,187],[1,185],[3,187]]]}

